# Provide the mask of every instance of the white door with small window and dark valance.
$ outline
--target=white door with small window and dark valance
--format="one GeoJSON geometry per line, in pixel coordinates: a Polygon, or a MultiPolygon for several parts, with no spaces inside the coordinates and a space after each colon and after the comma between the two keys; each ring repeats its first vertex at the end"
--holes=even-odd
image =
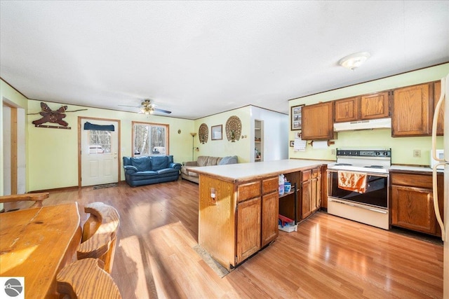
{"type": "Polygon", "coordinates": [[[111,120],[81,121],[81,186],[93,186],[119,181],[118,122],[111,120]],[[114,131],[84,130],[86,122],[114,125],[114,131]]]}

